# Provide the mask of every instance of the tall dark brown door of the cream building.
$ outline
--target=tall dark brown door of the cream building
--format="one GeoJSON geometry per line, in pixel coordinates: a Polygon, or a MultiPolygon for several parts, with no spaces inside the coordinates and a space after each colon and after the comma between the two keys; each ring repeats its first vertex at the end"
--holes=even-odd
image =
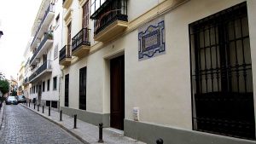
{"type": "Polygon", "coordinates": [[[125,55],[110,60],[110,126],[124,130],[125,55]]]}

